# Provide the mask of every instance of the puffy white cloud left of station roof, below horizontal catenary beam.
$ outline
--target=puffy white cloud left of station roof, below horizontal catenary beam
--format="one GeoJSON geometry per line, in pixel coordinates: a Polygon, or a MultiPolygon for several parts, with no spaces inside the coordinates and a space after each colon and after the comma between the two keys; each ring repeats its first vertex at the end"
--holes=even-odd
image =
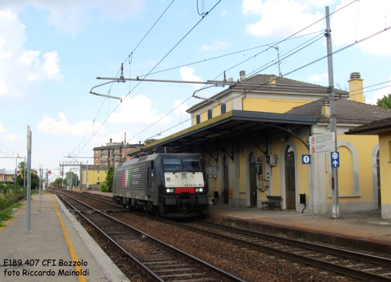
{"type": "MultiPolygon", "coordinates": [[[[122,97],[124,98],[124,97],[122,97]]],[[[162,123],[171,123],[171,118],[157,115],[156,109],[152,109],[152,101],[140,94],[134,99],[126,98],[119,104],[119,112],[113,112],[109,117],[110,122],[115,123],[154,123],[162,118],[162,123]]]]}

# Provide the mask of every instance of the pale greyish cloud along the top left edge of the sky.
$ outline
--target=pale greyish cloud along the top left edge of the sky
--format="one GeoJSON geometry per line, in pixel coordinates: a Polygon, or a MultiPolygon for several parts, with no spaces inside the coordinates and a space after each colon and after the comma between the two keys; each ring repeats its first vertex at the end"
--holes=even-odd
{"type": "Polygon", "coordinates": [[[48,21],[56,28],[76,34],[92,17],[122,20],[144,10],[145,0],[12,0],[1,1],[0,9],[22,11],[27,5],[49,12],[48,21]]]}

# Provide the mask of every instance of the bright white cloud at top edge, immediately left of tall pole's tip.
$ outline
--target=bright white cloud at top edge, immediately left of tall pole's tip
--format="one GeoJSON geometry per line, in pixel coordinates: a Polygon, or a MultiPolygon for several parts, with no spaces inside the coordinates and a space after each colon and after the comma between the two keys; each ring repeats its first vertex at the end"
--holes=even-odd
{"type": "MultiPolygon", "coordinates": [[[[256,36],[285,37],[291,35],[309,24],[324,17],[321,12],[310,13],[312,2],[309,0],[244,0],[242,12],[246,14],[256,14],[261,16],[261,21],[247,24],[246,33],[256,36]]],[[[330,2],[330,1],[323,1],[330,2]]],[[[305,30],[306,33],[324,29],[324,21],[318,22],[305,30]]]]}

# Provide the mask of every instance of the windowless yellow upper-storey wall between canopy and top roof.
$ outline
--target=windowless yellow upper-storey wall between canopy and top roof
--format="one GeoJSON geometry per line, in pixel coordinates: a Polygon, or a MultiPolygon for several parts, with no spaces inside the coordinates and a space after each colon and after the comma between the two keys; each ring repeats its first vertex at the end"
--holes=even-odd
{"type": "Polygon", "coordinates": [[[264,98],[244,98],[243,109],[252,111],[284,113],[291,108],[308,104],[311,101],[282,100],[264,98]]]}

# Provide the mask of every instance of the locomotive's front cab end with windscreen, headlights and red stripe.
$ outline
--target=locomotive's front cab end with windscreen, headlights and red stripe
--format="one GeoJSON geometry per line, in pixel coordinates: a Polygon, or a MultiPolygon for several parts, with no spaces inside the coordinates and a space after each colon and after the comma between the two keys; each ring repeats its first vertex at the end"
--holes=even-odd
{"type": "Polygon", "coordinates": [[[163,215],[190,217],[209,210],[208,184],[201,156],[162,154],[160,159],[165,183],[163,215]]]}

